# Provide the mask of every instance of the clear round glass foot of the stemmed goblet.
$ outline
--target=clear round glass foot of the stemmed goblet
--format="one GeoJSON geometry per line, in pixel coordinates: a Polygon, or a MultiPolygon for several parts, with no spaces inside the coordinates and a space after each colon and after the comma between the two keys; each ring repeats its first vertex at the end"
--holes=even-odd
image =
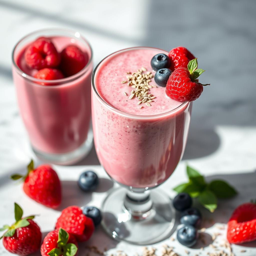
{"type": "MultiPolygon", "coordinates": [[[[124,206],[127,189],[113,190],[102,205],[102,226],[114,239],[137,245],[160,242],[170,236],[175,222],[172,201],[161,189],[150,191],[152,207],[131,214],[124,206]]],[[[146,202],[148,205],[148,201],[146,202]]]]}

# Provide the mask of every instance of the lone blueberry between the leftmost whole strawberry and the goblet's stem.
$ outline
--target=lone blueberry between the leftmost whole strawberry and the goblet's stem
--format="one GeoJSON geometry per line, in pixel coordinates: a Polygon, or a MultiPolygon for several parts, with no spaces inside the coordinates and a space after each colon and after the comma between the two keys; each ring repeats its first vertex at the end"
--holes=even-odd
{"type": "Polygon", "coordinates": [[[93,171],[86,171],[82,173],[78,180],[78,186],[83,191],[95,189],[99,184],[99,178],[93,171]]]}

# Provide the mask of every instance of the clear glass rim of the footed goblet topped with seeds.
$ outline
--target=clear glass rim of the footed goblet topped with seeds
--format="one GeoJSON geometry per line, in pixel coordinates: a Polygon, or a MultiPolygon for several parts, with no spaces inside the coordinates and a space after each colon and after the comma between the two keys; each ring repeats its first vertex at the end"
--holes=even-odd
{"type": "MultiPolygon", "coordinates": [[[[164,113],[161,113],[161,114],[155,114],[155,115],[136,115],[136,114],[130,114],[130,113],[126,113],[124,111],[121,111],[113,106],[111,106],[109,103],[107,103],[105,100],[103,100],[101,98],[101,96],[99,95],[98,91],[96,90],[96,87],[95,87],[95,83],[94,83],[94,78],[95,78],[95,74],[97,72],[97,69],[98,67],[100,66],[100,64],[107,58],[111,57],[112,55],[114,54],[118,54],[119,52],[123,52],[123,51],[128,51],[128,50],[132,50],[132,49],[156,49],[156,50],[161,50],[163,52],[166,53],[165,50],[163,49],[160,49],[160,48],[155,48],[155,47],[148,47],[148,46],[135,46],[135,47],[129,47],[129,48],[125,48],[125,49],[121,49],[121,50],[118,50],[118,51],[115,51],[115,52],[112,52],[111,54],[109,54],[108,56],[106,56],[105,58],[103,58],[99,63],[98,65],[94,68],[93,72],[92,72],[92,88],[93,88],[93,93],[95,93],[96,97],[102,102],[102,104],[104,106],[106,106],[110,111],[112,112],[115,112],[116,114],[119,114],[119,115],[122,115],[124,117],[127,117],[127,118],[133,118],[133,119],[152,119],[152,118],[160,118],[160,117],[164,117],[164,116],[168,116],[169,114],[172,114],[176,111],[178,111],[179,109],[181,109],[182,107],[184,107],[185,105],[188,106],[188,104],[190,102],[188,101],[184,101],[183,103],[181,103],[179,106],[177,106],[175,109],[172,109],[170,111],[167,111],[167,112],[164,112],[164,113]]],[[[186,108],[187,108],[186,106],[186,108]]]]}

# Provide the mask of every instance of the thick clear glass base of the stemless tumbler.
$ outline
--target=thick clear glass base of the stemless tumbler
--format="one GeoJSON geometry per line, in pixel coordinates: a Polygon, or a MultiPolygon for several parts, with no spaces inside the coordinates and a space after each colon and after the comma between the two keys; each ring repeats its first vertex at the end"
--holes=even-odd
{"type": "Polygon", "coordinates": [[[59,165],[71,165],[74,164],[89,154],[93,145],[93,132],[89,130],[86,141],[77,149],[72,152],[63,154],[49,154],[36,150],[32,147],[36,156],[48,163],[59,164],[59,165]]]}

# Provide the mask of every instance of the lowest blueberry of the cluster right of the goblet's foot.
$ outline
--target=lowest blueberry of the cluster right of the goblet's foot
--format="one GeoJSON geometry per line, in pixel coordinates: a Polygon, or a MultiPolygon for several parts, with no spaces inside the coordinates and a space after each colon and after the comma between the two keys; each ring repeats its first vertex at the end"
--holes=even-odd
{"type": "Polygon", "coordinates": [[[178,241],[187,247],[192,247],[196,243],[197,238],[197,230],[191,225],[183,226],[177,232],[178,241]]]}

